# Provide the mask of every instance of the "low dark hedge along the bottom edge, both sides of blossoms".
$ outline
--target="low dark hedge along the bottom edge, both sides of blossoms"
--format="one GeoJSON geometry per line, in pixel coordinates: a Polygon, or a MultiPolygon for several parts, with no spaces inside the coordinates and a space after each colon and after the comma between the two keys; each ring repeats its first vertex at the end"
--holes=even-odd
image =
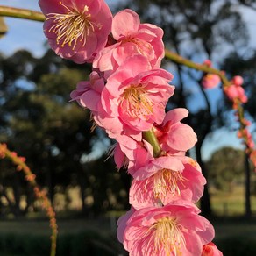
{"type": "MultiPolygon", "coordinates": [[[[224,256],[256,255],[256,234],[253,238],[229,237],[217,239],[224,256]]],[[[46,235],[0,234],[1,256],[47,256],[50,240],[46,235]]],[[[116,237],[106,237],[96,231],[60,235],[57,256],[126,256],[116,237]]],[[[184,255],[185,256],[185,255],[184,255]]]]}

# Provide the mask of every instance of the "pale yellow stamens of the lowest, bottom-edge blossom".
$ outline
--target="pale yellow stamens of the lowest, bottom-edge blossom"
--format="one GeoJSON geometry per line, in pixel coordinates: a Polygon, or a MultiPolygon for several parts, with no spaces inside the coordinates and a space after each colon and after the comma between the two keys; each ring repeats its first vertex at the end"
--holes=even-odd
{"type": "Polygon", "coordinates": [[[151,229],[154,229],[154,250],[159,255],[162,250],[167,256],[181,256],[181,247],[186,245],[185,238],[181,232],[181,224],[176,218],[162,217],[151,229]]]}

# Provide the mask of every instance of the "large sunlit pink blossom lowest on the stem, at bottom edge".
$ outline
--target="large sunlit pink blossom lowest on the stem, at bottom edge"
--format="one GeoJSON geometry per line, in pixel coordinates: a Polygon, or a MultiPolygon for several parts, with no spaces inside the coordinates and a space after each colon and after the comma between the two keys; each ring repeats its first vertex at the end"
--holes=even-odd
{"type": "Polygon", "coordinates": [[[117,238],[130,255],[199,256],[214,237],[212,225],[199,212],[183,200],[131,210],[118,220],[117,238]]]}

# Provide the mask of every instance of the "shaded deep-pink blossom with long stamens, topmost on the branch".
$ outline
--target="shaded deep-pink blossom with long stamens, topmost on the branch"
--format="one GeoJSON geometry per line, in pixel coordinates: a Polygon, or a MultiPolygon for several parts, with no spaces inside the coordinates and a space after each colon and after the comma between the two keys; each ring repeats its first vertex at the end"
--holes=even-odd
{"type": "Polygon", "coordinates": [[[39,6],[46,38],[60,57],[91,62],[106,45],[112,14],[103,0],[39,0],[39,6]]]}

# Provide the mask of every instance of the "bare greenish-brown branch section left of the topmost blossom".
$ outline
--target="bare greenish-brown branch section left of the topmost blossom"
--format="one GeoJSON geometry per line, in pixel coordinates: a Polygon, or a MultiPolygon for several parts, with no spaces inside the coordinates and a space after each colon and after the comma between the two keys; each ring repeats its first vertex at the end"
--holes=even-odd
{"type": "Polygon", "coordinates": [[[0,16],[12,18],[25,18],[34,21],[44,21],[45,16],[39,11],[32,11],[28,9],[13,8],[9,6],[0,5],[0,16]]]}

